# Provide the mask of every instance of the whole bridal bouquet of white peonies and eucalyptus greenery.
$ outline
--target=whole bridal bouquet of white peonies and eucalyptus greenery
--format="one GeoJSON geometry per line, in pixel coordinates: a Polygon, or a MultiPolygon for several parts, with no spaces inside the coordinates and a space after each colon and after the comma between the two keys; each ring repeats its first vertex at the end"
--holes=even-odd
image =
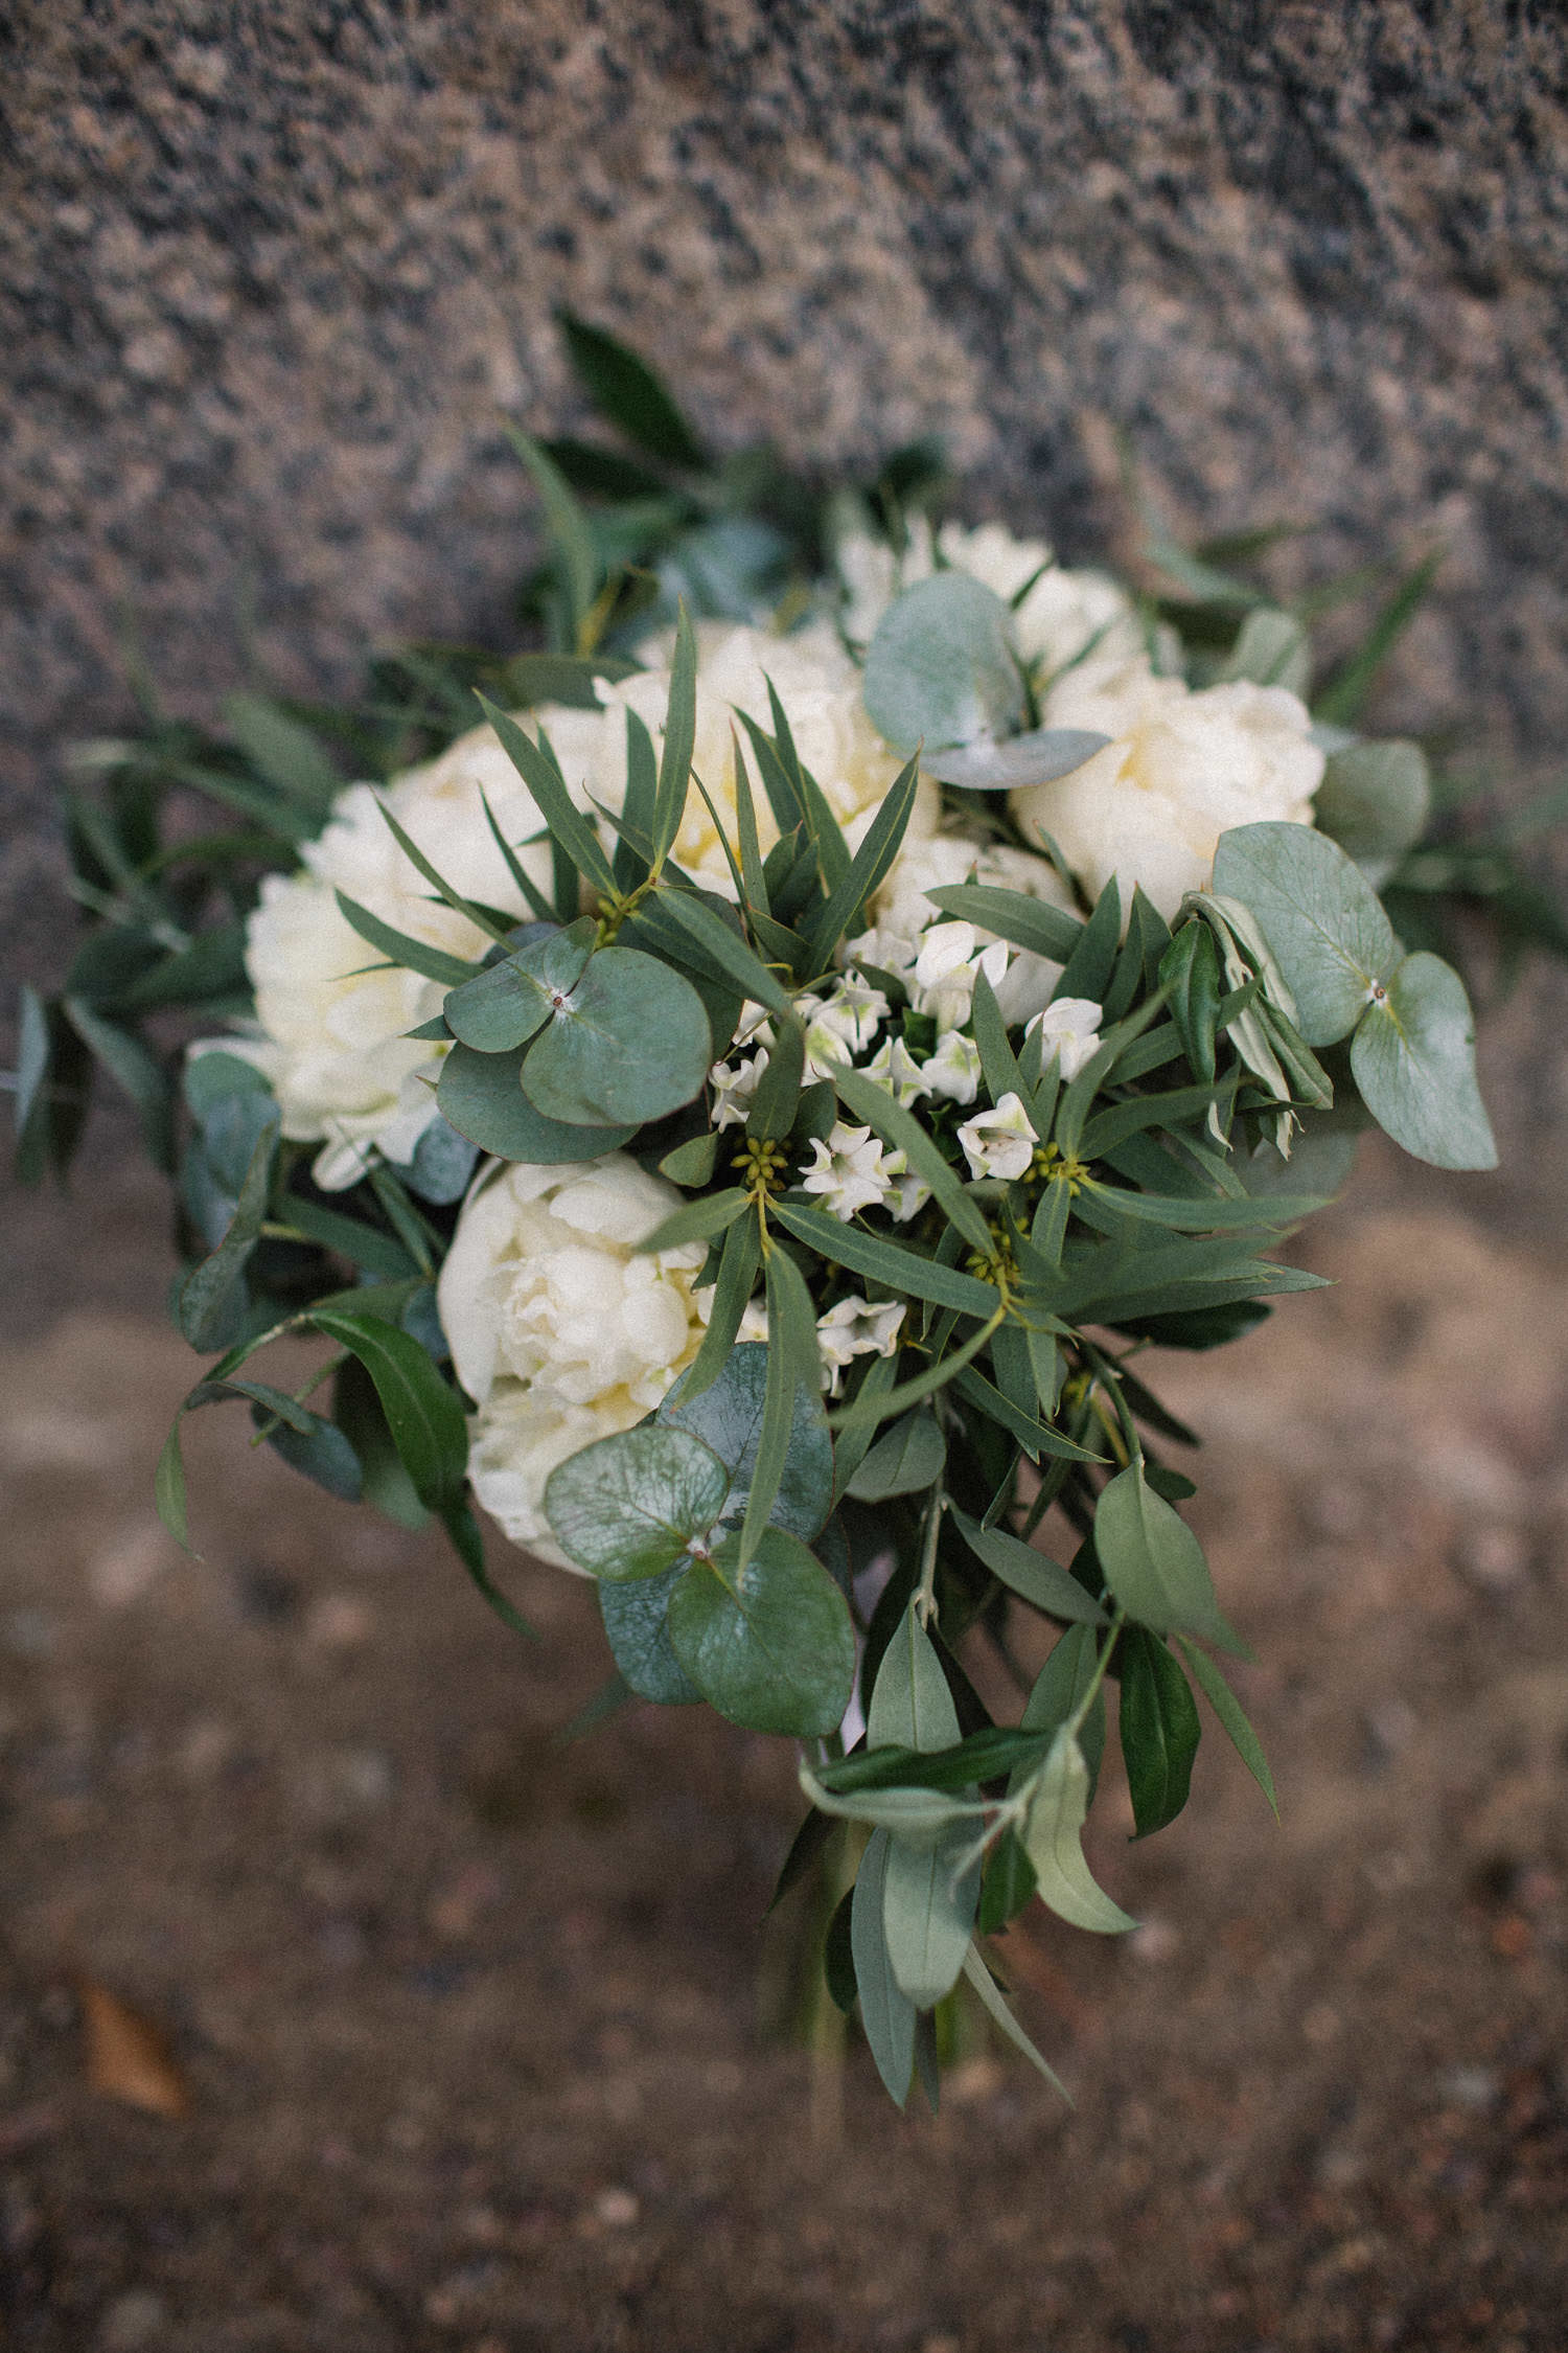
{"type": "MultiPolygon", "coordinates": [[[[936,529],[924,452],[813,499],[569,336],[635,454],[520,440],[545,652],[80,751],[19,1151],[63,1165],[103,1064],[176,1174],[186,1409],[435,1515],[520,1624],[480,1506],[595,1579],[614,1694],[802,1744],[785,1885],[858,1857],[827,1986],[903,2104],[959,1979],[1037,2057],[1023,1906],[1131,1927],[1081,1847],[1107,1692],[1138,1835],[1199,1697],[1272,1800],[1138,1358],[1316,1280],[1276,1247],[1361,1125],[1493,1165],[1427,941],[1526,885],[1415,849],[1425,758],[1354,727],[1420,581],[1314,704],[1253,546],[1135,595],[936,529]],[[299,1391],[282,1334],[327,1344],[299,1391]]],[[[158,1492],[186,1541],[179,1426],[158,1492]]]]}

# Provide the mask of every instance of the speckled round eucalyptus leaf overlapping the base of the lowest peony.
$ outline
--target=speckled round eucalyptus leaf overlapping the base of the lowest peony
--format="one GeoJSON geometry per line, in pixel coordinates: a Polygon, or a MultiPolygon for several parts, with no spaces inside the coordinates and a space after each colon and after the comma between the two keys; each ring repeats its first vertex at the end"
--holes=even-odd
{"type": "Polygon", "coordinates": [[[569,1454],[545,1480],[545,1518],[590,1577],[658,1577],[719,1518],[729,1473],[689,1431],[642,1424],[569,1454]]]}

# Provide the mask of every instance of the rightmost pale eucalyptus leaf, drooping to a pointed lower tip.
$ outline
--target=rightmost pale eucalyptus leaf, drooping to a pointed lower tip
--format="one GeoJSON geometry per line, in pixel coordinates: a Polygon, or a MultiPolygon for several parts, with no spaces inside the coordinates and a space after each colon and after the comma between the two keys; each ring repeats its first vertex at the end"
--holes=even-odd
{"type": "Polygon", "coordinates": [[[1495,1169],[1476,1087],[1476,1021],[1441,955],[1406,955],[1349,1042],[1349,1068],[1378,1125],[1439,1169],[1495,1169]]]}

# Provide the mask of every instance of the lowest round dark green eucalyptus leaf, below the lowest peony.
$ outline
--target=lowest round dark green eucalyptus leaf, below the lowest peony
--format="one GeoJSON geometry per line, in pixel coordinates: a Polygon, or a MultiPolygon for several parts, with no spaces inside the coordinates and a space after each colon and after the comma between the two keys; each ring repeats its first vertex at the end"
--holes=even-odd
{"type": "Polygon", "coordinates": [[[738,1537],[693,1560],[670,1595],[670,1642],[731,1725],[809,1739],[844,1720],[856,1680],[849,1605],[783,1527],[764,1527],[745,1567],[738,1537]]]}

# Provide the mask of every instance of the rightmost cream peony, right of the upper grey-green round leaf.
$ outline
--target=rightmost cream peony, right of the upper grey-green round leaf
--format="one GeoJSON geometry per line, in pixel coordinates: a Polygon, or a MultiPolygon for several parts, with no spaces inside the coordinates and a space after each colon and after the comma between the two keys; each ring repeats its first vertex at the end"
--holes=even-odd
{"type": "Polygon", "coordinates": [[[1208,882],[1229,826],[1312,824],[1324,753],[1286,687],[1192,689],[1143,661],[1112,673],[1084,664],[1046,696],[1044,720],[1112,741],[1070,776],[1013,793],[1013,816],[1056,840],[1091,899],[1114,875],[1124,913],[1140,885],[1161,915],[1175,915],[1208,882]]]}

